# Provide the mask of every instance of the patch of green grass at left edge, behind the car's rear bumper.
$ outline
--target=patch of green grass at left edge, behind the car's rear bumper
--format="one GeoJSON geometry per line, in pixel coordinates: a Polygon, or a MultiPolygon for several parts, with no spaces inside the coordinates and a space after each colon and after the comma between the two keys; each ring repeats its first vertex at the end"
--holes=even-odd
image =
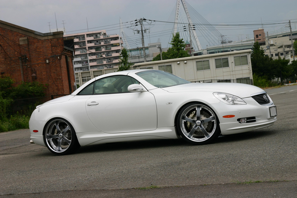
{"type": "Polygon", "coordinates": [[[14,131],[18,129],[29,129],[30,117],[18,112],[10,118],[0,120],[0,132],[14,131]]]}

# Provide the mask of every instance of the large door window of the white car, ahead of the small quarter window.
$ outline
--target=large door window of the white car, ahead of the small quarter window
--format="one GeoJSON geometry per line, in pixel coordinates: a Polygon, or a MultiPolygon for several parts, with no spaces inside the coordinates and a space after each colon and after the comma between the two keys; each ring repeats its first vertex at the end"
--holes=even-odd
{"type": "Polygon", "coordinates": [[[95,81],[94,94],[114,94],[128,92],[128,86],[139,84],[130,76],[118,75],[95,81]]]}

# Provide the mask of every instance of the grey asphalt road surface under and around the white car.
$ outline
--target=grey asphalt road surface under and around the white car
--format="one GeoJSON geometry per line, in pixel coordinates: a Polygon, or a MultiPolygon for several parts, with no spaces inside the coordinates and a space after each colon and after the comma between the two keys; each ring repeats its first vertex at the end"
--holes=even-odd
{"type": "Polygon", "coordinates": [[[29,144],[29,130],[0,133],[0,197],[297,197],[297,86],[266,91],[273,126],[202,146],[150,140],[55,156],[29,144]],[[278,182],[234,184],[249,180],[278,182]],[[163,188],[133,189],[151,185],[163,188]]]}

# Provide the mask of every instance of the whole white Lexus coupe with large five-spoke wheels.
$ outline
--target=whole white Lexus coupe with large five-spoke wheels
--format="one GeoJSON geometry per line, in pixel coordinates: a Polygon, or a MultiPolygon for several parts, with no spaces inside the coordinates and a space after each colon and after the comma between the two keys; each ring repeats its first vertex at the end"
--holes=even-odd
{"type": "Polygon", "coordinates": [[[168,72],[138,69],[98,76],[37,106],[29,126],[32,143],[64,155],[108,142],[182,137],[206,144],[219,134],[271,126],[276,116],[261,88],[190,83],[168,72]]]}

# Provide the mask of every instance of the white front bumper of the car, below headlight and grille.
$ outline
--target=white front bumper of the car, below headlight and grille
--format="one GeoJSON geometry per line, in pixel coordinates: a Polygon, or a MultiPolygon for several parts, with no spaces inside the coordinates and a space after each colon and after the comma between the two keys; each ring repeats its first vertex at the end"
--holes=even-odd
{"type": "Polygon", "coordinates": [[[270,117],[269,107],[258,104],[252,97],[244,98],[247,104],[228,105],[223,102],[209,105],[219,117],[222,135],[243,133],[255,129],[262,129],[274,124],[276,116],[270,117]],[[223,118],[224,115],[235,115],[233,118],[223,118]],[[255,122],[239,123],[238,118],[256,117],[255,122]]]}

